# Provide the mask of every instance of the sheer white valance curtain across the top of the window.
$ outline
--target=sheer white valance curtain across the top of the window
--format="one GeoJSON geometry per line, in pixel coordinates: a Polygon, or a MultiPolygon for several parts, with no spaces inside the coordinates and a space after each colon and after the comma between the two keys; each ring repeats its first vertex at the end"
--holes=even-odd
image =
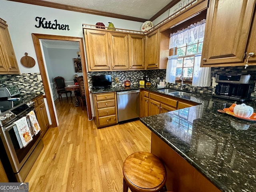
{"type": "Polygon", "coordinates": [[[169,49],[194,42],[196,39],[204,37],[205,19],[195,24],[191,24],[185,29],[170,34],[169,49]]]}

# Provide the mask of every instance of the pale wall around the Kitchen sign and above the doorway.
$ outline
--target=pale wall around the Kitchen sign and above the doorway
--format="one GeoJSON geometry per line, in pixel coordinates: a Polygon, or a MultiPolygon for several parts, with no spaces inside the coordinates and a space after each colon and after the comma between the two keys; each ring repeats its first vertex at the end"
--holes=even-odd
{"type": "Polygon", "coordinates": [[[6,20],[8,24],[8,30],[21,73],[40,72],[31,36],[32,33],[83,37],[82,24],[103,22],[108,26],[108,22],[112,22],[116,28],[130,30],[140,30],[142,25],[141,22],[35,6],[7,0],[0,0],[0,17],[6,20]],[[37,16],[45,17],[47,21],[52,22],[56,19],[59,24],[69,25],[70,30],[36,28],[35,25],[38,25],[38,22],[36,22],[35,18],[37,16]],[[26,68],[21,65],[20,58],[24,56],[25,52],[28,53],[28,56],[36,60],[34,67],[26,68]]]}

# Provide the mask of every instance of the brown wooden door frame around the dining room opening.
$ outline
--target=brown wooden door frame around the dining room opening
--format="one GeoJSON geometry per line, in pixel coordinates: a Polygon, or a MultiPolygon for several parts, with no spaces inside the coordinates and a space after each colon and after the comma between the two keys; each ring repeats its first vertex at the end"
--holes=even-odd
{"type": "Polygon", "coordinates": [[[56,127],[58,125],[57,125],[56,115],[55,115],[54,108],[53,108],[54,101],[52,100],[52,96],[50,93],[49,82],[47,79],[46,68],[45,68],[44,60],[43,60],[43,53],[42,53],[41,46],[40,46],[40,39],[79,42],[79,50],[80,50],[80,54],[81,54],[80,57],[81,57],[82,70],[83,70],[83,76],[84,76],[84,88],[85,88],[85,93],[86,93],[86,106],[87,106],[88,118],[92,119],[92,108],[91,108],[91,102],[90,102],[90,92],[89,92],[89,86],[88,86],[83,38],[32,33],[32,39],[34,42],[34,48],[36,51],[36,57],[37,57],[37,61],[38,61],[40,74],[42,76],[42,82],[43,82],[43,86],[44,86],[46,101],[48,104],[48,109],[49,109],[50,117],[52,120],[52,127],[56,127]]]}

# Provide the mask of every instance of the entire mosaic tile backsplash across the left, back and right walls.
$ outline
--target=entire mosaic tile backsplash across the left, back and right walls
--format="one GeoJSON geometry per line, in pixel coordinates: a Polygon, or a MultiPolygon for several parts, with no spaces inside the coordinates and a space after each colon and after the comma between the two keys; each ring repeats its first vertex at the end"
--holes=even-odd
{"type": "MultiPolygon", "coordinates": [[[[256,90],[255,81],[256,81],[256,66],[248,66],[244,69],[244,66],[236,67],[212,67],[211,69],[212,77],[215,77],[219,73],[235,73],[235,74],[250,74],[251,75],[251,97],[256,98],[256,93],[253,92],[256,90]]],[[[166,70],[135,70],[135,71],[106,71],[106,72],[87,72],[88,84],[89,87],[92,86],[92,75],[101,75],[101,74],[110,74],[112,78],[112,86],[124,86],[124,81],[130,80],[132,85],[138,85],[139,80],[146,75],[150,78],[152,86],[156,86],[157,78],[165,79],[166,70]],[[115,78],[118,78],[119,83],[115,82],[115,78]]],[[[18,75],[0,75],[0,86],[10,86],[18,85],[21,92],[42,92],[44,91],[44,86],[42,81],[38,80],[37,75],[40,73],[26,73],[18,75]]],[[[166,87],[180,89],[180,83],[170,84],[166,83],[166,87]]],[[[195,87],[191,84],[186,84],[184,90],[193,92],[200,92],[206,94],[212,94],[215,91],[215,87],[195,87]]]]}

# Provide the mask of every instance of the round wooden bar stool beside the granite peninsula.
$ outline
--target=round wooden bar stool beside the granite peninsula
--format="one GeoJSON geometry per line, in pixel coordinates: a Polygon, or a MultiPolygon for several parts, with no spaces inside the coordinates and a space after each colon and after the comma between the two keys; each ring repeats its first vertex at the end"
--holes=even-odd
{"type": "Polygon", "coordinates": [[[149,152],[135,152],[123,164],[123,192],[166,191],[166,169],[160,159],[149,152]]]}

